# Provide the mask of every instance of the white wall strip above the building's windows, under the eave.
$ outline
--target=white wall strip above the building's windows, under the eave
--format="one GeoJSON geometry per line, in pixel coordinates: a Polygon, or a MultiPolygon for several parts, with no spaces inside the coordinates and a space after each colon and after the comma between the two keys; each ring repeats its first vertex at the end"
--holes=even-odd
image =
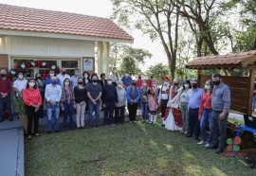
{"type": "Polygon", "coordinates": [[[95,57],[95,42],[0,36],[0,53],[10,56],[95,57]]]}

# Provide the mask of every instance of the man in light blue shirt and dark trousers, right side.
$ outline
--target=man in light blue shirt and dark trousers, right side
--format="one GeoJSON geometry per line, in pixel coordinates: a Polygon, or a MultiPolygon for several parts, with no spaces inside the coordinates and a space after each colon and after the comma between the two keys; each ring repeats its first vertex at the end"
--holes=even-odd
{"type": "Polygon", "coordinates": [[[198,141],[200,132],[200,121],[198,119],[198,115],[203,90],[198,87],[197,79],[192,79],[191,81],[192,89],[188,91],[189,132],[185,136],[192,137],[194,135],[194,140],[198,141]]]}

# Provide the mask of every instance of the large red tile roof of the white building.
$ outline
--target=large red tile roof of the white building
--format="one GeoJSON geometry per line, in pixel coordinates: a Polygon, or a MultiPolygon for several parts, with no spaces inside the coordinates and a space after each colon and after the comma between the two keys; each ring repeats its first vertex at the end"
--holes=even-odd
{"type": "Polygon", "coordinates": [[[134,40],[106,18],[3,4],[0,4],[0,29],[134,40]]]}

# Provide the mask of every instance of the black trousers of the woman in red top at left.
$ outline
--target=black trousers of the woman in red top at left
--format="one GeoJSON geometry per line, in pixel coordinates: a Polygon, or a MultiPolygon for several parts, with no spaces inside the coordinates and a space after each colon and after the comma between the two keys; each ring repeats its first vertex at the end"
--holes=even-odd
{"type": "Polygon", "coordinates": [[[31,135],[33,121],[34,121],[34,133],[38,133],[38,126],[39,126],[38,114],[39,112],[35,112],[34,107],[27,106],[27,134],[28,135],[31,135]]]}

